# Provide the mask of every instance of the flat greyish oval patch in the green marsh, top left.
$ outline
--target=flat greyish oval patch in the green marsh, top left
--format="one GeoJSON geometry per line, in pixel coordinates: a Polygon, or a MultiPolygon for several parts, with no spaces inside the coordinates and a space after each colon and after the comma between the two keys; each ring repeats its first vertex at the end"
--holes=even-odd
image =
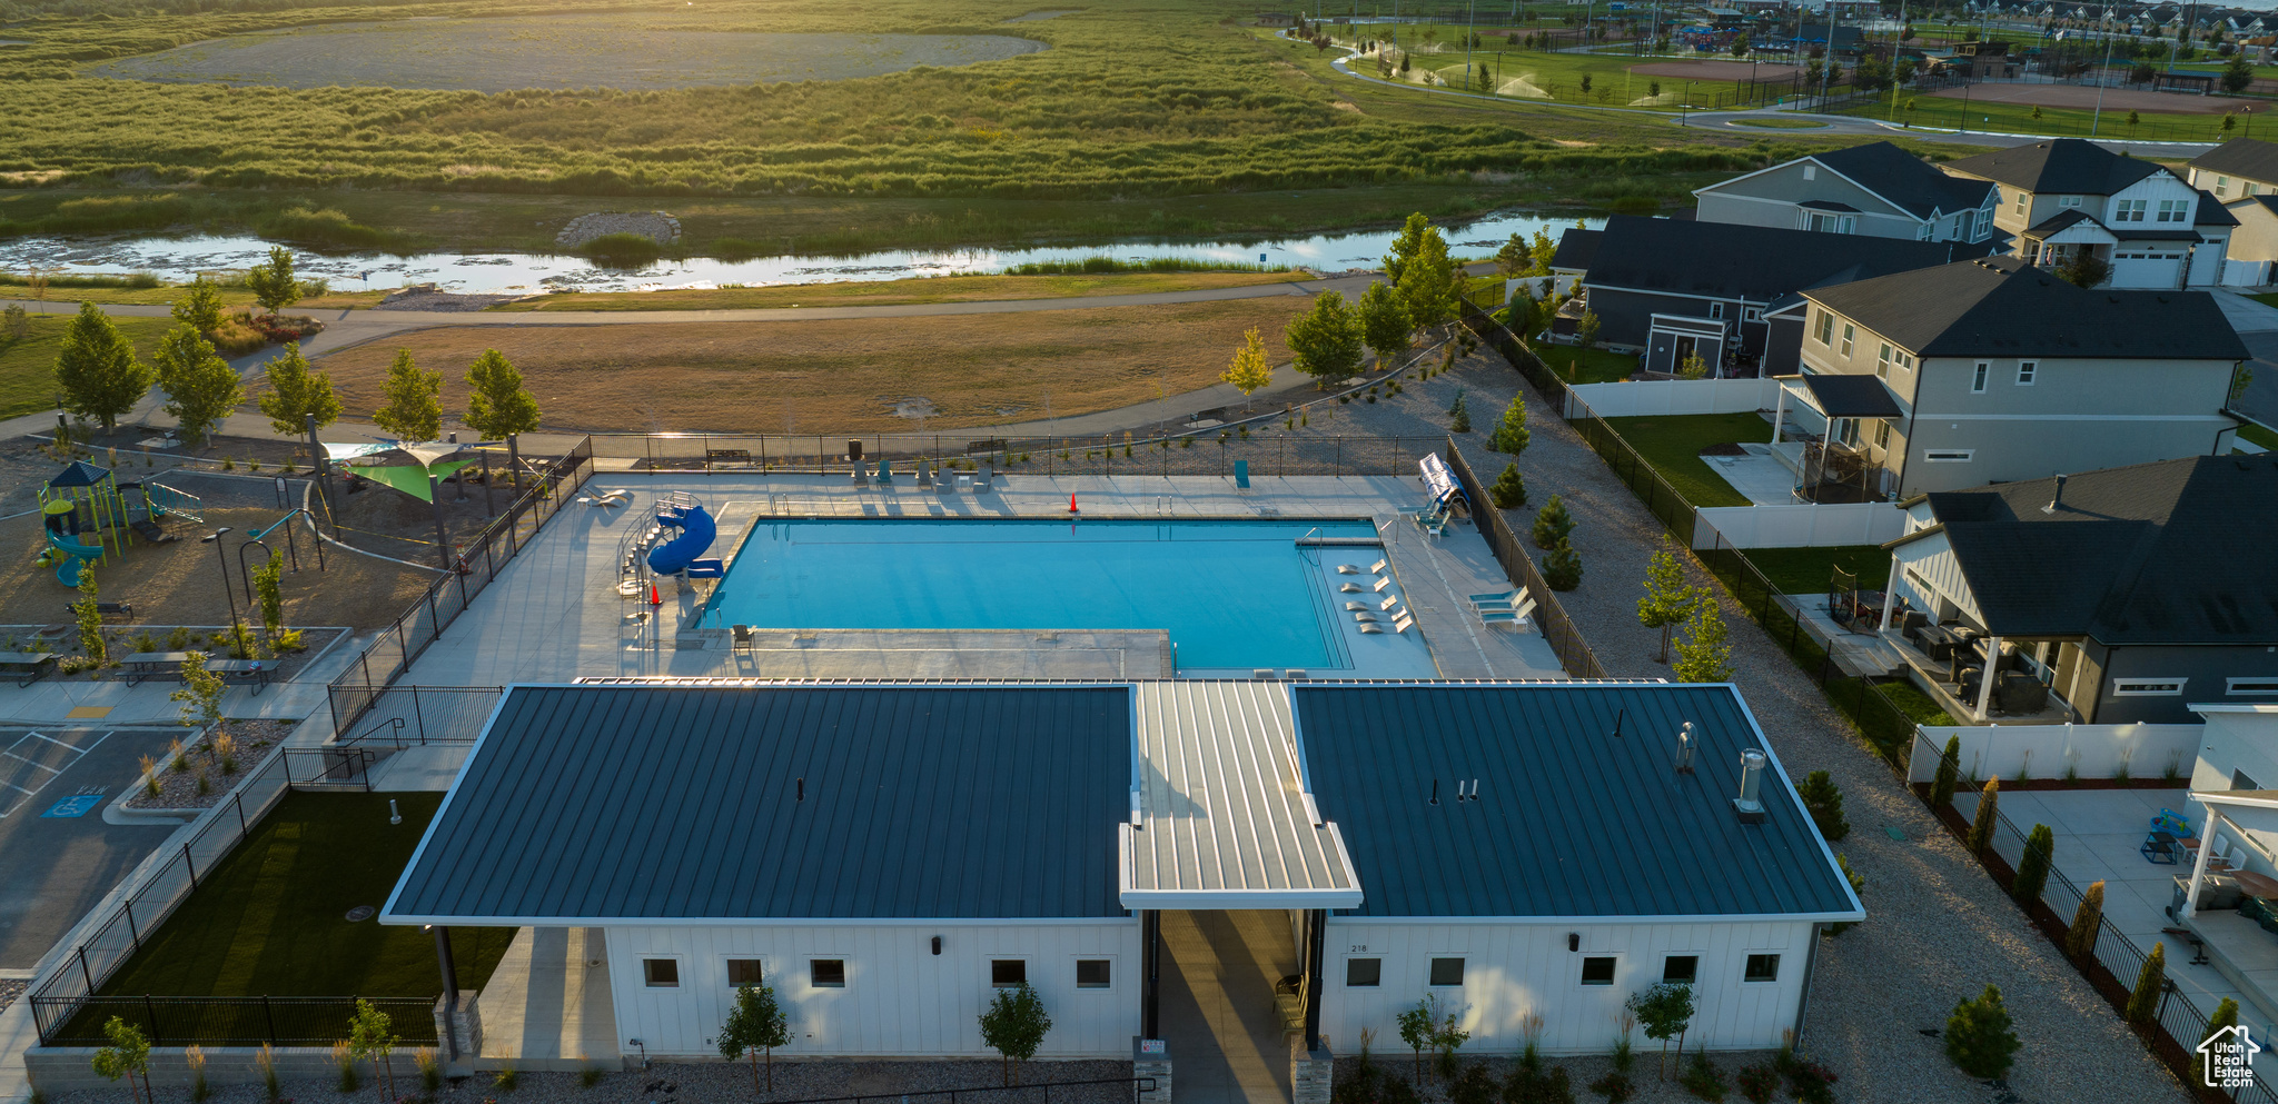
{"type": "Polygon", "coordinates": [[[852,80],[1043,50],[1011,34],[768,34],[642,16],[405,18],[235,34],[89,66],[91,77],[285,89],[688,89],[852,80]]]}

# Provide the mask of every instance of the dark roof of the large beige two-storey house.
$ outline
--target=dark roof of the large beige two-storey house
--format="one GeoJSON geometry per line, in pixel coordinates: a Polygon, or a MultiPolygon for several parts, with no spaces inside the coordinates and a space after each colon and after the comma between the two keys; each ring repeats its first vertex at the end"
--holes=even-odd
{"type": "Polygon", "coordinates": [[[2091,291],[2016,257],[1882,275],[1806,296],[1920,357],[2251,355],[2205,291],[2091,291]]]}

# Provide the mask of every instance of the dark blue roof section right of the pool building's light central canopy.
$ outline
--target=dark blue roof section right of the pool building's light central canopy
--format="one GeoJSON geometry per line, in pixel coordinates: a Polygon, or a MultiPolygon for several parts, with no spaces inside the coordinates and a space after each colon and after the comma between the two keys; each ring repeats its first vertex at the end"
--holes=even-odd
{"type": "Polygon", "coordinates": [[[1731,799],[1763,735],[1729,685],[1292,685],[1314,804],[1374,917],[1847,915],[1779,760],[1761,824],[1731,799]],[[1608,735],[1622,717],[1620,738],[1608,735]],[[1677,731],[1699,738],[1677,774],[1677,731]],[[1478,778],[1478,801],[1456,783],[1478,778]],[[1433,783],[1440,804],[1431,804],[1433,783]]]}

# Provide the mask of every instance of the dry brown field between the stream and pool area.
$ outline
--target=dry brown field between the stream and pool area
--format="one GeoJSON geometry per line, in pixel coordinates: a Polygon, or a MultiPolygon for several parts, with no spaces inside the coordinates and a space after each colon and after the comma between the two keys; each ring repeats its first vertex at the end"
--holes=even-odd
{"type": "Polygon", "coordinates": [[[321,360],[346,417],[369,417],[396,348],[444,373],[465,410],[465,364],[499,348],[547,428],[631,432],[898,432],[1144,403],[1207,387],[1257,328],[1303,296],[918,319],[419,330],[321,360]]]}

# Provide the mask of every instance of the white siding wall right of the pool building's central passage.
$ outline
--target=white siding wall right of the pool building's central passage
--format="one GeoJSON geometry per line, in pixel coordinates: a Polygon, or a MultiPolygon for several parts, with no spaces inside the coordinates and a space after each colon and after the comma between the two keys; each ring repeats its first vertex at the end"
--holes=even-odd
{"type": "Polygon", "coordinates": [[[1526,1045],[1522,1024],[1542,1013],[1542,1052],[1601,1054],[1617,1033],[1622,1004],[1663,977],[1663,958],[1699,956],[1693,983],[1697,1013],[1688,1047],[1768,1049],[1795,1027],[1811,954],[1809,922],[1453,922],[1380,924],[1328,920],[1324,949],[1321,1033],[1342,1052],[1358,1052],[1360,1031],[1376,1049],[1399,1049],[1396,1018],[1426,992],[1442,1008],[1462,1008],[1472,1031],[1465,1054],[1506,1054],[1526,1045]],[[1567,949],[1581,933],[1581,951],[1567,949]],[[1743,981],[1750,954],[1777,954],[1775,981],[1743,981]],[[1583,958],[1613,956],[1611,986],[1583,986],[1583,958]],[[1351,958],[1380,958],[1374,988],[1346,986],[1351,958]],[[1462,986],[1431,986],[1433,958],[1462,958],[1462,986]],[[1390,1043],[1387,1043],[1390,1040],[1390,1043]]]}

